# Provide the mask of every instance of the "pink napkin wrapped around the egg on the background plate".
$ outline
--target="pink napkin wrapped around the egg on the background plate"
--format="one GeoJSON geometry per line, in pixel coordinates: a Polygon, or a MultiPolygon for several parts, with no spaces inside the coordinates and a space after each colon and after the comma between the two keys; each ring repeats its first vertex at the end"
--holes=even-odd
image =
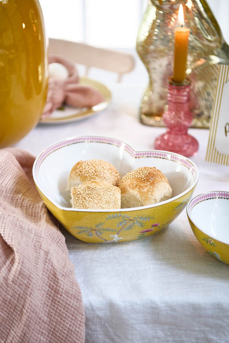
{"type": "Polygon", "coordinates": [[[102,94],[94,87],[79,84],[79,76],[74,63],[57,55],[49,55],[50,63],[60,63],[68,70],[66,80],[49,79],[48,94],[43,115],[50,115],[63,103],[73,107],[93,107],[103,101],[102,94]]]}

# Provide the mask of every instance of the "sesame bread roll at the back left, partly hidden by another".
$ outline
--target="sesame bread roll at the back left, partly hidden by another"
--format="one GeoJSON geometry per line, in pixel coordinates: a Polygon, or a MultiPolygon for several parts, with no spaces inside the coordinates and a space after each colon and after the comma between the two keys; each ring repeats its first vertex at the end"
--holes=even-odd
{"type": "Polygon", "coordinates": [[[79,161],[71,169],[66,190],[91,180],[106,181],[111,185],[118,186],[120,175],[113,164],[102,159],[79,161]]]}

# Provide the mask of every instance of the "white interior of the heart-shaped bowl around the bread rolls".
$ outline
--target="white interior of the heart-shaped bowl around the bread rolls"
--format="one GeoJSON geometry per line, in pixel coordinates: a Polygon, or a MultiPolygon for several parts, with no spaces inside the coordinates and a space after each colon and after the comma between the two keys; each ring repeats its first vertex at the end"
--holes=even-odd
{"type": "Polygon", "coordinates": [[[78,142],[61,147],[47,155],[41,163],[36,172],[37,186],[51,202],[64,208],[71,208],[69,193],[65,191],[70,170],[77,161],[93,158],[112,163],[121,176],[138,167],[154,166],[168,178],[173,189],[173,197],[193,185],[194,177],[185,165],[164,158],[136,158],[125,150],[125,146],[124,143],[116,146],[99,142],[78,142]]]}

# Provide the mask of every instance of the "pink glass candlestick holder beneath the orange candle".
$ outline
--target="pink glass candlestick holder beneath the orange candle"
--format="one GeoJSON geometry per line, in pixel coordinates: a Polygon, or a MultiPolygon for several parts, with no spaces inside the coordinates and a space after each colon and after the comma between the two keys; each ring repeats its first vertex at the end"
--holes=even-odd
{"type": "Polygon", "coordinates": [[[192,123],[192,114],[188,108],[191,82],[187,79],[182,84],[169,78],[168,105],[163,114],[167,132],[156,138],[155,149],[166,150],[186,157],[193,156],[198,150],[198,142],[187,133],[192,123]]]}

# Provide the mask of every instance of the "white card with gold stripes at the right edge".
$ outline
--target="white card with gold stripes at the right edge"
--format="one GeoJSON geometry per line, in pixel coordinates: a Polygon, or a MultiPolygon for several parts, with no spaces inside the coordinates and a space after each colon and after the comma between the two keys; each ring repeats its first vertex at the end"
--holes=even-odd
{"type": "Polygon", "coordinates": [[[229,165],[229,66],[220,65],[206,161],[229,165]]]}

